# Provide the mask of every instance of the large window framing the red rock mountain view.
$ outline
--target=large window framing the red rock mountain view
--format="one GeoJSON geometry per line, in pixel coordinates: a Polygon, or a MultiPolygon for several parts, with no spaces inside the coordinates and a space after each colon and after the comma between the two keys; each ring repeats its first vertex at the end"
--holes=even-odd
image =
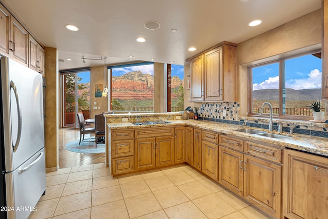
{"type": "Polygon", "coordinates": [[[154,111],[154,64],[138,63],[111,68],[111,109],[154,111]]]}

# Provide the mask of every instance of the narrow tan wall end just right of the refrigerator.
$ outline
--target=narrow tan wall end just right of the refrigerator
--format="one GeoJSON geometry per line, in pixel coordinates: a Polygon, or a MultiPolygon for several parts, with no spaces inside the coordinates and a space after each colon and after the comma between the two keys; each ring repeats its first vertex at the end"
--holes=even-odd
{"type": "Polygon", "coordinates": [[[47,172],[58,167],[58,124],[59,124],[59,83],[58,83],[58,51],[45,48],[46,90],[46,168],[47,172]]]}

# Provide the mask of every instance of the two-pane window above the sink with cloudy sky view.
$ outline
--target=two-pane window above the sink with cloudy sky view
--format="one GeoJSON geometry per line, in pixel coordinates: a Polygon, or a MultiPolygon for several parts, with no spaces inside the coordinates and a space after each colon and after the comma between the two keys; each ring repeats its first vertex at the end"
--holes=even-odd
{"type": "MultiPolygon", "coordinates": [[[[250,114],[258,114],[269,102],[276,117],[308,119],[312,110],[307,106],[321,99],[321,72],[318,51],[249,67],[250,114]]],[[[269,113],[269,107],[263,113],[269,113]]]]}

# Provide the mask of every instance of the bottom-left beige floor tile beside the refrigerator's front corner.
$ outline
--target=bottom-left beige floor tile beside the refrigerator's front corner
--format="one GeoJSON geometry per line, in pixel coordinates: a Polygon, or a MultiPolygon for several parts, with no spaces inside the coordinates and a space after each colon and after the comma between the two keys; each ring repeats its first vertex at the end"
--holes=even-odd
{"type": "Polygon", "coordinates": [[[51,200],[38,202],[35,206],[36,211],[30,214],[29,219],[52,217],[53,213],[55,212],[58,201],[59,198],[53,198],[51,200]]]}

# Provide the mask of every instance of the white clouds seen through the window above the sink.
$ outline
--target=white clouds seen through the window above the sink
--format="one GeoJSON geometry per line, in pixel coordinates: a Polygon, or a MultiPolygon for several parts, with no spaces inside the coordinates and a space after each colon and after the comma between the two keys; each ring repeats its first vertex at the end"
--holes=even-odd
{"type": "MultiPolygon", "coordinates": [[[[291,79],[286,81],[286,88],[294,90],[321,88],[321,72],[314,69],[308,74],[308,78],[291,79]]],[[[279,87],[279,76],[269,77],[261,83],[254,83],[253,90],[277,89],[279,87]]]]}

